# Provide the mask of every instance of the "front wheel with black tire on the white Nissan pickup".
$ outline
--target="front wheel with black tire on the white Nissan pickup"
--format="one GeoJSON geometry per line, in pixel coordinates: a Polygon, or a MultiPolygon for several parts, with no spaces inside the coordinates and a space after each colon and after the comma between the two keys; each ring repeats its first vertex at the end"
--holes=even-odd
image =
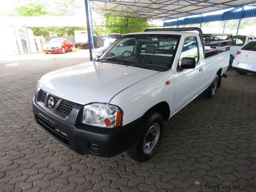
{"type": "Polygon", "coordinates": [[[163,117],[157,112],[148,111],[142,118],[141,127],[136,134],[134,143],[127,150],[127,154],[134,161],[140,163],[147,161],[150,157],[154,155],[159,145],[159,141],[161,140],[162,133],[163,117]],[[151,134],[152,131],[154,132],[153,134],[156,134],[155,137],[153,134],[151,134]],[[152,142],[151,145],[150,142],[152,142]],[[146,144],[148,144],[151,147],[144,148],[144,145],[147,147],[146,144]]]}

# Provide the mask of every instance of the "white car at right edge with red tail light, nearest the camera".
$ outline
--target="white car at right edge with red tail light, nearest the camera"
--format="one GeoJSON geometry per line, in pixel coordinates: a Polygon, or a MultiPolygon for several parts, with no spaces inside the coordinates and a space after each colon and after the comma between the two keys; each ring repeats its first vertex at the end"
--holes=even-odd
{"type": "Polygon", "coordinates": [[[232,67],[240,75],[256,74],[256,40],[250,41],[236,53],[232,67]]]}

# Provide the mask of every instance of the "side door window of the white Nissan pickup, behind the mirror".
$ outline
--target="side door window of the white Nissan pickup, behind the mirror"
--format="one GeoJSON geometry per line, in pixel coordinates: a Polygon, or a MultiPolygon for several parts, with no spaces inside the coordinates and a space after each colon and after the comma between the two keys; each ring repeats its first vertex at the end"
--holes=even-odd
{"type": "MultiPolygon", "coordinates": [[[[181,54],[180,54],[180,60],[184,57],[192,57],[196,59],[196,62],[198,62],[199,54],[198,54],[198,44],[195,36],[187,37],[185,39],[181,54]]],[[[180,64],[180,63],[179,63],[180,64]]]]}

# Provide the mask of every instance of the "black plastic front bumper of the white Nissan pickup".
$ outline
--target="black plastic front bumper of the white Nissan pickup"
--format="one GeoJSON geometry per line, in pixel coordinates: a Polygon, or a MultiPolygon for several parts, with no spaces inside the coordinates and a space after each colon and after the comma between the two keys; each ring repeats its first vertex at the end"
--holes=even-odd
{"type": "Polygon", "coordinates": [[[140,119],[114,129],[68,124],[46,113],[33,101],[37,124],[56,140],[80,154],[111,157],[127,150],[135,139],[140,119]]]}

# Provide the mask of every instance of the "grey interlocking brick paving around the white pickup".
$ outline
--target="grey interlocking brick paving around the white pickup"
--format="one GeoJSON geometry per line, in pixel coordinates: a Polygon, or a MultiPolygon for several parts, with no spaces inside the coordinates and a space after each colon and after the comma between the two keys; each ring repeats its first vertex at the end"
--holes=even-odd
{"type": "Polygon", "coordinates": [[[255,75],[228,71],[213,99],[200,95],[164,123],[157,153],[140,164],[125,152],[76,154],[35,123],[36,81],[84,60],[0,63],[0,191],[256,191],[255,75]]]}

